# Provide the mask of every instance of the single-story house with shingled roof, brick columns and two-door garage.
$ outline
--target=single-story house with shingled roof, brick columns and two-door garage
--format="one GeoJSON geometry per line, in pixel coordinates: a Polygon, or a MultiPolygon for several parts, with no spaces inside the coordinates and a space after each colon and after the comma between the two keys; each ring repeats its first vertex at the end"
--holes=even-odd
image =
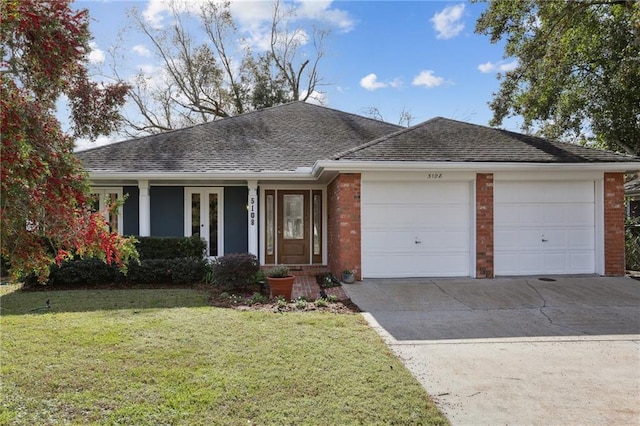
{"type": "Polygon", "coordinates": [[[623,275],[640,158],[294,102],[78,153],[127,235],[358,278],[623,275]]]}

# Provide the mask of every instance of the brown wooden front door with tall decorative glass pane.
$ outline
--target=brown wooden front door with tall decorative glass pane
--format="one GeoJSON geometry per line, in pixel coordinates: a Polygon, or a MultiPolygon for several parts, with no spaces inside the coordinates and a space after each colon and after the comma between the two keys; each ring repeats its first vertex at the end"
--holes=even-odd
{"type": "Polygon", "coordinates": [[[309,191],[278,191],[278,263],[310,263],[309,191]]]}

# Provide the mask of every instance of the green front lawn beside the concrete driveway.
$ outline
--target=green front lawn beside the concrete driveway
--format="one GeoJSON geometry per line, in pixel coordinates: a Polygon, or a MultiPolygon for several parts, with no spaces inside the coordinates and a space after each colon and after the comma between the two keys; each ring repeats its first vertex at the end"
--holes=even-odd
{"type": "Polygon", "coordinates": [[[0,424],[448,424],[360,315],[16,289],[0,287],[0,424]]]}

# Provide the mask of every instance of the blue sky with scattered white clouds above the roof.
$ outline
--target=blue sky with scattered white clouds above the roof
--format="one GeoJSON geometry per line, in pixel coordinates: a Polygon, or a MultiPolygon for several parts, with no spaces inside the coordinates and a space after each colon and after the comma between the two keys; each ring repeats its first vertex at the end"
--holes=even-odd
{"type": "MultiPolygon", "coordinates": [[[[200,1],[188,0],[185,11],[200,1]]],[[[296,10],[290,25],[306,34],[314,26],[330,31],[319,65],[323,85],[316,94],[316,102],[330,108],[359,115],[375,109],[378,118],[392,123],[404,111],[411,115],[411,125],[437,116],[487,125],[498,73],[517,66],[514,58],[504,57],[503,43],[491,44],[488,36],[474,33],[484,3],[287,0],[286,5],[296,10]]],[[[150,41],[130,29],[127,15],[135,7],[150,26],[167,25],[166,0],[76,0],[72,7],[89,10],[89,60],[96,80],[113,75],[109,52],[114,47],[126,58],[118,63],[122,78],[138,70],[157,74],[150,41]]],[[[232,0],[231,8],[240,34],[260,51],[271,1],[232,0]]],[[[200,29],[190,30],[197,40],[205,40],[200,29]]],[[[520,124],[512,118],[502,127],[519,131],[520,124]]],[[[83,140],[78,149],[121,139],[83,140]]]]}

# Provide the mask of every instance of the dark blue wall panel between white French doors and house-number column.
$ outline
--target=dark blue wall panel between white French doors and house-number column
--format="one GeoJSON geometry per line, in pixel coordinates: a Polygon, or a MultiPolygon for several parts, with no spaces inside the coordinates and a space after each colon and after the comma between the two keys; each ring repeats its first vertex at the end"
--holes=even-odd
{"type": "MultiPolygon", "coordinates": [[[[242,186],[224,188],[224,252],[246,253],[249,250],[247,200],[249,189],[242,186]]],[[[257,217],[257,214],[256,214],[257,217]]]]}

